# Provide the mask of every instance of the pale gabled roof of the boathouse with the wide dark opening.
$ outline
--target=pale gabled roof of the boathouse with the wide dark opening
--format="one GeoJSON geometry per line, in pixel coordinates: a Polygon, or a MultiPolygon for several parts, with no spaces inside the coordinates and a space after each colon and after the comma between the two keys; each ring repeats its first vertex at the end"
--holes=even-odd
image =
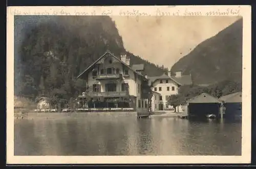
{"type": "Polygon", "coordinates": [[[221,101],[208,93],[201,93],[183,102],[185,103],[221,103],[221,101]]]}

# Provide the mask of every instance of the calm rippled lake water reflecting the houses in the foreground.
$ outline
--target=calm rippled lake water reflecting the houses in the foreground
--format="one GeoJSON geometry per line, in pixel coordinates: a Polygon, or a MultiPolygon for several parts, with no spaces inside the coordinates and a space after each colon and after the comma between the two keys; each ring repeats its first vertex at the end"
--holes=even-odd
{"type": "Polygon", "coordinates": [[[241,155],[241,133],[241,122],[34,114],[14,120],[14,155],[241,155]]]}

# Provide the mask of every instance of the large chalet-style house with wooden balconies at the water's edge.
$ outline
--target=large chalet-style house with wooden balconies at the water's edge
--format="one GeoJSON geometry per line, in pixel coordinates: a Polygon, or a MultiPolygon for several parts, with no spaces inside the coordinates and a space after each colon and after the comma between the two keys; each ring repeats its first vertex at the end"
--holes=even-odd
{"type": "Polygon", "coordinates": [[[142,75],[143,70],[143,65],[131,66],[126,54],[121,54],[119,59],[107,51],[77,78],[86,80],[94,108],[127,107],[146,111],[150,87],[146,76],[142,75]]]}

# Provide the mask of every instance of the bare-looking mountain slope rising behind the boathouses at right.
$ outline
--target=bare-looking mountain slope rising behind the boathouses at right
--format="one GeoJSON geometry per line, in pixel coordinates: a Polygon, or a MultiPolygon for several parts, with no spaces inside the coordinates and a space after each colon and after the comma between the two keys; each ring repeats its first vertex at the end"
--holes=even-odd
{"type": "Polygon", "coordinates": [[[243,20],[200,43],[176,62],[171,71],[191,74],[194,84],[229,80],[242,82],[243,20]]]}

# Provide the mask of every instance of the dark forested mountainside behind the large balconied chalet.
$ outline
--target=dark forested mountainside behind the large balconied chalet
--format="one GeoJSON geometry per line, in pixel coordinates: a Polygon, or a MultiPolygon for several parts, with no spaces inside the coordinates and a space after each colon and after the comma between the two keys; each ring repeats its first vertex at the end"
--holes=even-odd
{"type": "MultiPolygon", "coordinates": [[[[14,32],[14,94],[31,99],[76,96],[86,87],[75,81],[81,71],[106,50],[116,56],[126,52],[109,16],[15,16],[14,32]]],[[[127,56],[131,64],[144,63],[148,76],[166,71],[127,56]]]]}

